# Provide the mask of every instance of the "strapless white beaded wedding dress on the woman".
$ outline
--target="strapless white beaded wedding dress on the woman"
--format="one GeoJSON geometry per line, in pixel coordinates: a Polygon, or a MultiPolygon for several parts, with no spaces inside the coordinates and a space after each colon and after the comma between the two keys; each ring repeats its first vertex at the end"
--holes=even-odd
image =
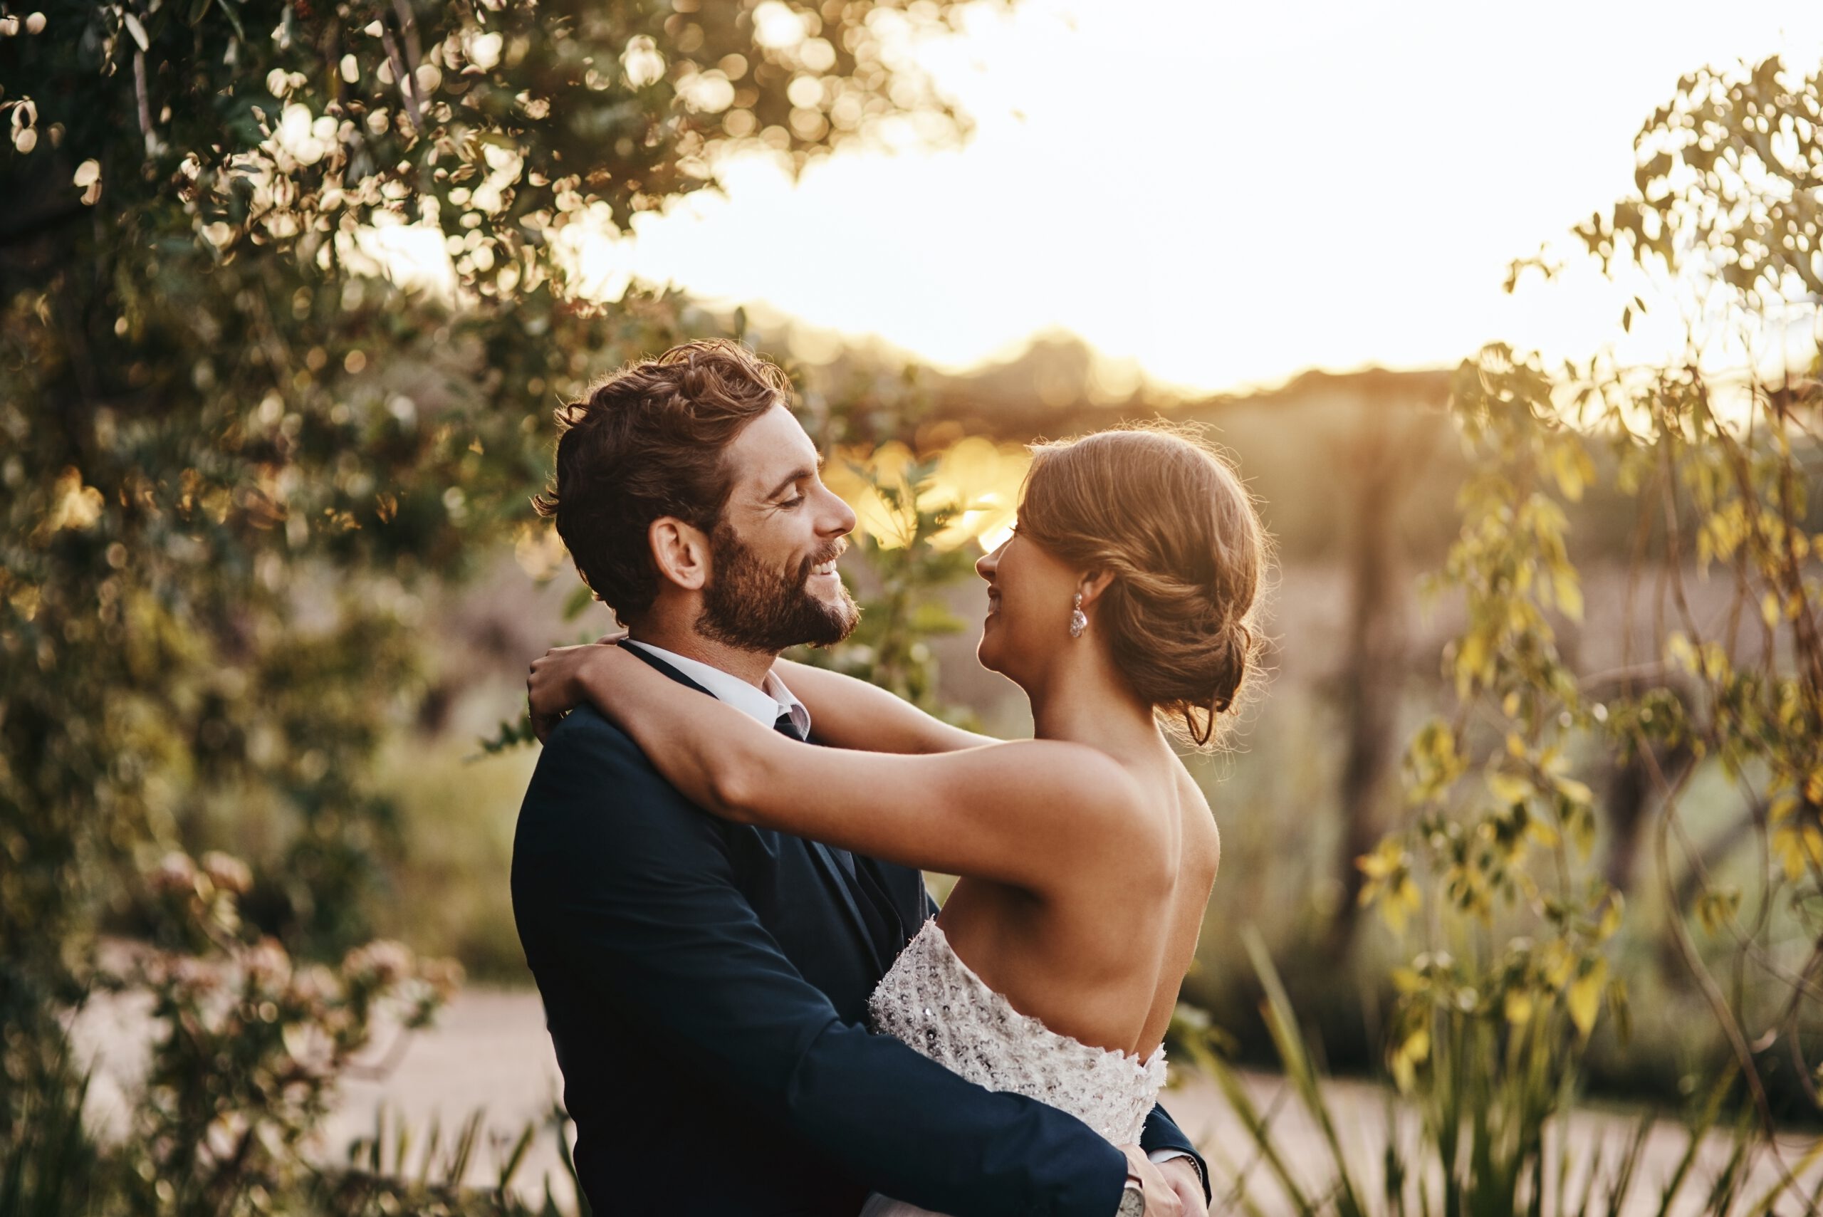
{"type": "MultiPolygon", "coordinates": [[[[1165,1048],[1141,1060],[1057,1035],[1021,1015],[964,964],[932,918],[899,953],[868,998],[873,1028],[988,1089],[1061,1108],[1112,1144],[1138,1144],[1165,1086],[1165,1048]]],[[[860,1217],[917,1217],[928,1210],[884,1195],[860,1217]]]]}

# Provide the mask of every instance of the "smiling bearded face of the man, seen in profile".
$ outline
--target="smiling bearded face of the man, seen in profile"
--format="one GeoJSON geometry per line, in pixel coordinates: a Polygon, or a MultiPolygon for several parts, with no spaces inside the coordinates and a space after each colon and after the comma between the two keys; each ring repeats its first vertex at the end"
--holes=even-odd
{"type": "Polygon", "coordinates": [[[835,559],[855,512],[822,485],[822,459],[782,404],[727,446],[733,488],[709,537],[696,630],[742,650],[829,645],[860,619],[835,559]]]}

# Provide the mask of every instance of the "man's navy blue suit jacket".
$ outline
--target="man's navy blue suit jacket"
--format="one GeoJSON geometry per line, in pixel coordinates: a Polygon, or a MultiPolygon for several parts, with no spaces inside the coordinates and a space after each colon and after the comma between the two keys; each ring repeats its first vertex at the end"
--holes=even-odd
{"type": "MultiPolygon", "coordinates": [[[[587,705],[525,793],[512,911],[596,1213],[851,1217],[868,1190],[957,1217],[1116,1210],[1125,1162],[1087,1124],[866,1031],[933,913],[917,871],[709,816],[587,705]]],[[[1145,1146],[1194,1151],[1161,1108],[1145,1146]]]]}

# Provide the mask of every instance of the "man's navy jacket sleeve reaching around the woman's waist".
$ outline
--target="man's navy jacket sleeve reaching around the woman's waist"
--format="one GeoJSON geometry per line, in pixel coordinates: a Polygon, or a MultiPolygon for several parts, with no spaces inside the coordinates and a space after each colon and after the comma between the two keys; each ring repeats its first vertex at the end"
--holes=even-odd
{"type": "MultiPolygon", "coordinates": [[[[957,1217],[1110,1217],[1119,1150],[844,1024],[735,885],[724,829],[587,709],[552,734],[514,853],[534,967],[563,967],[707,1062],[855,1179],[957,1217]]],[[[1150,1131],[1150,1128],[1148,1128],[1150,1131]]]]}

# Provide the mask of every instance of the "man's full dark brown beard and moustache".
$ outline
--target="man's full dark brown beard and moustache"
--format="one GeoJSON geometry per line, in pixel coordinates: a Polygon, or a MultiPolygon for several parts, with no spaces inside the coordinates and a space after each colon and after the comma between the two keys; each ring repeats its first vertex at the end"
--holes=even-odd
{"type": "Polygon", "coordinates": [[[709,534],[713,574],[702,590],[696,630],[727,647],[766,654],[842,641],[860,621],[860,605],[840,583],[837,603],[819,599],[808,585],[811,567],[840,552],[842,547],[833,545],[795,570],[771,570],[726,521],[718,523],[709,534]]]}

